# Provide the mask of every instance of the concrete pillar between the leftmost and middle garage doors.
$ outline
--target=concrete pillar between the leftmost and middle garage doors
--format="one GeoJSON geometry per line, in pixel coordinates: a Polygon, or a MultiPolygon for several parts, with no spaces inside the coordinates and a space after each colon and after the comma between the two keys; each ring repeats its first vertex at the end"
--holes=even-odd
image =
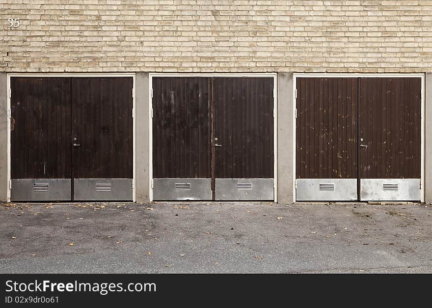
{"type": "Polygon", "coordinates": [[[135,201],[147,203],[149,189],[149,75],[136,73],[135,78],[135,201]]]}

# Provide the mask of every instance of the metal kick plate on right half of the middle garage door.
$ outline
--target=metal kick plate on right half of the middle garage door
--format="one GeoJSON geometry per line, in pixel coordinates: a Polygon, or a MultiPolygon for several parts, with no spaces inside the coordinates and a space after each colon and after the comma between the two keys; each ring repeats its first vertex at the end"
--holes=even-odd
{"type": "Polygon", "coordinates": [[[216,200],[274,200],[273,179],[215,179],[216,200]]]}

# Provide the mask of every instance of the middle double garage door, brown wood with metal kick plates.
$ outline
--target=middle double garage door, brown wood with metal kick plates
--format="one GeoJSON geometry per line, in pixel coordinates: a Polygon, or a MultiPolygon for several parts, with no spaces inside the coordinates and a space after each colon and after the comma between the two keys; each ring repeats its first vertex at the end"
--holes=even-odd
{"type": "Polygon", "coordinates": [[[273,199],[273,78],[153,78],[155,200],[273,199]]]}

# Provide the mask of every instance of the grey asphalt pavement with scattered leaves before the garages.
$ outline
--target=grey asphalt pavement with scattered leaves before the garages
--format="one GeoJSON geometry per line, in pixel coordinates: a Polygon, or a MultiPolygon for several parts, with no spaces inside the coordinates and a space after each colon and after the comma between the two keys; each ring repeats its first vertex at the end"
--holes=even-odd
{"type": "Polygon", "coordinates": [[[0,203],[0,273],[432,273],[431,209],[0,203]]]}

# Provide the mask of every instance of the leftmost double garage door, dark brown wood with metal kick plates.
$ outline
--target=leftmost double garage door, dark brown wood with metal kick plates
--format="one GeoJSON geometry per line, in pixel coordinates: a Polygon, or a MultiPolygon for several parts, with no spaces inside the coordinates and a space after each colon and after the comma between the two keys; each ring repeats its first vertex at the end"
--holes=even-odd
{"type": "Polygon", "coordinates": [[[11,199],[131,200],[132,78],[11,78],[11,199]]]}

